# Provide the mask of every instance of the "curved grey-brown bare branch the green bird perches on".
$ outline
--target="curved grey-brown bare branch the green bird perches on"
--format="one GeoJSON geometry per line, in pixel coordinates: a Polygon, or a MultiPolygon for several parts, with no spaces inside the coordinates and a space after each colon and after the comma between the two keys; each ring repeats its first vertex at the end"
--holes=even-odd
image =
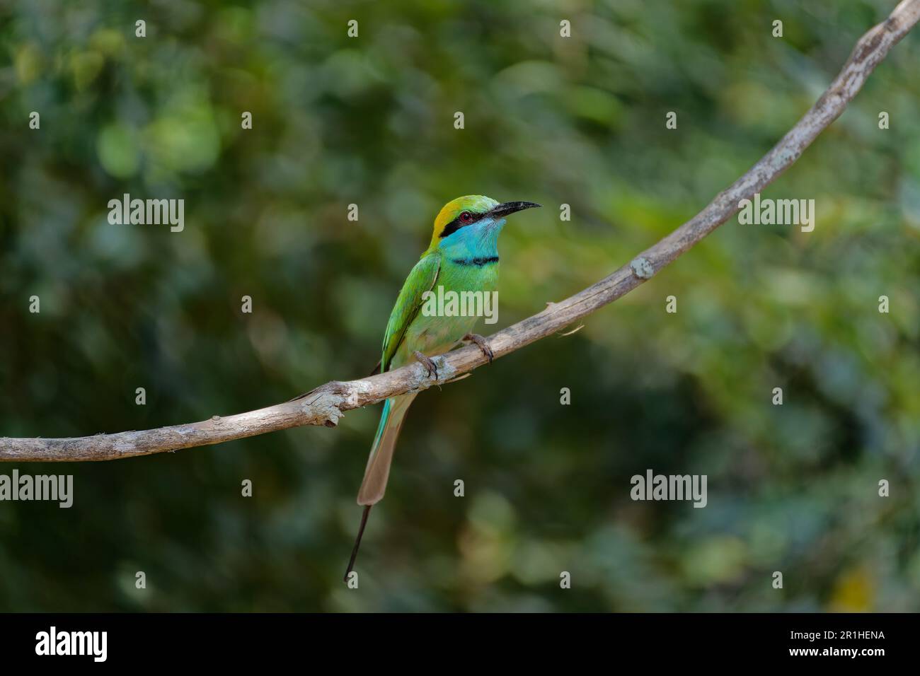
{"type": "MultiPolygon", "coordinates": [[[[590,315],[606,304],[635,289],[658,273],[703,237],[725,223],[739,210],[739,201],[752,199],[773,182],[844,111],[868,76],[920,19],[920,0],[903,0],[891,15],[870,29],[821,98],[764,155],[707,207],[679,228],[646,249],[629,264],[587,289],[489,337],[495,357],[521,349],[546,338],[572,322],[590,315]]],[[[486,362],[480,349],[470,346],[434,359],[443,384],[470,372],[486,362]]],[[[98,434],[74,439],[0,439],[0,461],[59,462],[115,460],[134,455],[203,446],[243,439],[302,425],[335,427],[345,411],[367,406],[389,396],[427,389],[435,381],[420,364],[381,373],[361,380],[332,381],[306,395],[277,406],[248,413],[174,425],[156,430],[98,434]]]]}

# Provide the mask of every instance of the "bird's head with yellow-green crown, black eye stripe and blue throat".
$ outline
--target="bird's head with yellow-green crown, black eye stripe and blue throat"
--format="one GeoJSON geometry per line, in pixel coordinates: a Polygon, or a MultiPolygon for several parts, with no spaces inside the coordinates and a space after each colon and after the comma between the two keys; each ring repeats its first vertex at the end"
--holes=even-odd
{"type": "Polygon", "coordinates": [[[475,251],[494,247],[506,216],[538,206],[532,201],[500,203],[485,195],[458,197],[447,202],[434,219],[430,248],[466,248],[475,251]]]}

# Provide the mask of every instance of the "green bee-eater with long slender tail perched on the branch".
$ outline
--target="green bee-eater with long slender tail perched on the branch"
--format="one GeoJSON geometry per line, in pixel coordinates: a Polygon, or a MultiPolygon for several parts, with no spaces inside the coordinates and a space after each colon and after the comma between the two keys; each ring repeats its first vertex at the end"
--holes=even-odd
{"type": "MultiPolygon", "coordinates": [[[[484,195],[466,195],[447,202],[434,219],[431,245],[408,273],[390,313],[384,334],[381,372],[420,361],[434,377],[437,369],[431,357],[453,349],[463,340],[474,342],[492,361],[492,351],[485,338],[471,333],[477,316],[431,314],[421,312],[425,292],[493,292],[499,281],[499,235],[505,217],[523,209],[538,207],[530,201],[499,203],[484,195]],[[439,287],[443,287],[439,289],[439,287]]],[[[367,516],[371,507],[384,497],[386,480],[397,436],[408,407],[418,393],[387,399],[380,425],[371,447],[358,491],[358,504],[364,506],[361,526],[345,578],[354,567],[367,516]]]]}

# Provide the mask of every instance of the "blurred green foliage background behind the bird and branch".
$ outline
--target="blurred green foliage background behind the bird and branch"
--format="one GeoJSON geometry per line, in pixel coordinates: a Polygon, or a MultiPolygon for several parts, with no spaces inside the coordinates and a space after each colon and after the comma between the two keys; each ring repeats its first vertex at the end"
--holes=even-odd
{"type": "MultiPolygon", "coordinates": [[[[0,3],[0,435],[159,427],[366,375],[458,195],[546,205],[500,243],[497,327],[532,315],[740,176],[894,5],[0,3]],[[125,192],[183,198],[184,232],[110,225],[125,192]]],[[[420,396],[359,590],[341,575],[380,407],[0,464],[75,475],[70,510],[0,503],[0,610],[920,609],[918,57],[912,34],[765,190],[816,200],[813,233],[732,220],[578,333],[420,396]],[[649,468],[706,474],[707,508],[632,501],[649,468]]]]}

